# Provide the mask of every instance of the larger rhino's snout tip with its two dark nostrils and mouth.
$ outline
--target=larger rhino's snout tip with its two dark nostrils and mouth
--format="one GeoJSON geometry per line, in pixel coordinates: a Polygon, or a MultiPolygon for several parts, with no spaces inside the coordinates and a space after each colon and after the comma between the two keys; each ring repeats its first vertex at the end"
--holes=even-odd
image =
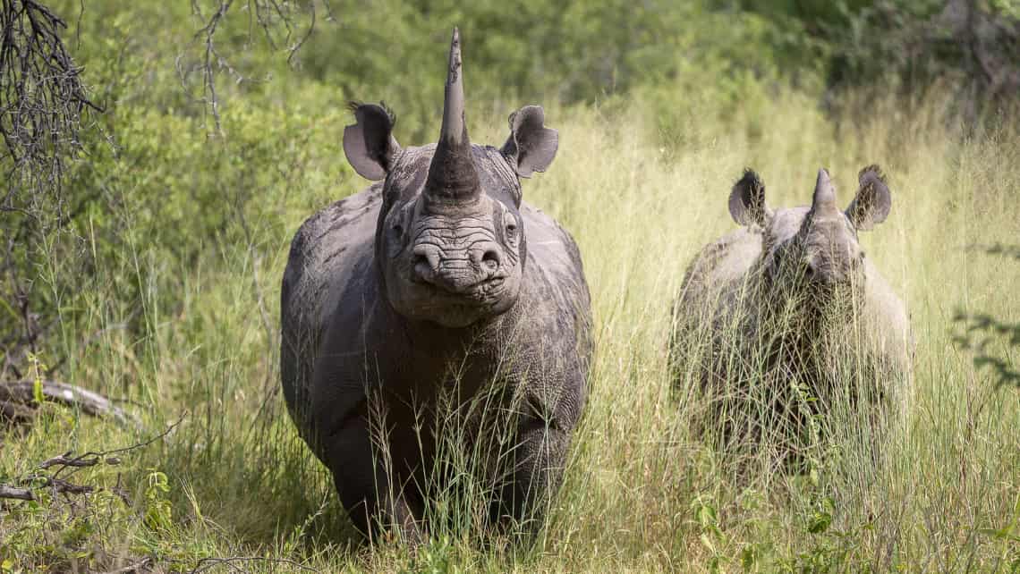
{"type": "Polygon", "coordinates": [[[452,294],[465,294],[497,278],[503,258],[495,245],[444,252],[434,245],[414,248],[413,278],[452,294]]]}

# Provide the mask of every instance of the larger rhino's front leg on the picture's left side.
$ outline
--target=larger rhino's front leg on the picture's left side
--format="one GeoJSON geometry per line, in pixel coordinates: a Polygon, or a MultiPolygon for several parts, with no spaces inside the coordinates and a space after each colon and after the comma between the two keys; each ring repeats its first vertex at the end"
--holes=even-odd
{"type": "Polygon", "coordinates": [[[356,418],[335,436],[329,452],[330,470],[341,504],[357,527],[371,535],[381,527],[399,532],[412,545],[422,541],[415,510],[402,487],[391,480],[392,465],[380,460],[380,449],[372,442],[367,421],[356,418]]]}

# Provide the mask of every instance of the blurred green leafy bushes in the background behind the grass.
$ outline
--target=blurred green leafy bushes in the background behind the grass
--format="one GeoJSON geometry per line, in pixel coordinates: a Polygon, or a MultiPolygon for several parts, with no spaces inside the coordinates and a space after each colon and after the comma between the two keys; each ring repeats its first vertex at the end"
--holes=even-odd
{"type": "MultiPolygon", "coordinates": [[[[442,105],[436,54],[454,24],[470,46],[479,113],[505,115],[524,101],[612,108],[638,98],[650,137],[667,151],[784,90],[822,109],[856,105],[866,114],[875,94],[902,90],[909,106],[937,87],[953,94],[947,118],[970,131],[1000,121],[1020,89],[1020,19],[1009,2],[50,6],[68,22],[63,40],[104,112],[85,109],[76,145],[54,149],[81,160],[61,188],[30,190],[24,173],[8,180],[0,239],[27,251],[8,253],[0,279],[10,319],[0,329],[3,373],[23,370],[23,349],[52,330],[61,306],[78,307],[64,299],[86,293],[81,281],[106,276],[103,262],[133,241],[121,236],[128,228],[150,240],[147,249],[165,250],[163,264],[189,265],[214,249],[213,238],[245,241],[251,233],[239,215],[278,224],[260,190],[293,182],[294,172],[332,197],[329,184],[351,176],[338,153],[347,101],[384,100],[398,112],[399,140],[427,141],[442,105]],[[860,87],[870,90],[839,96],[860,87]],[[325,157],[336,161],[316,161],[325,157]],[[81,240],[93,233],[110,252],[85,249],[81,240]],[[71,251],[42,289],[35,277],[53,250],[71,251]]],[[[760,136],[761,114],[746,115],[749,123],[730,127],[760,136]]],[[[118,290],[138,297],[138,285],[118,290]]],[[[140,317],[128,323],[143,328],[140,317]]]]}

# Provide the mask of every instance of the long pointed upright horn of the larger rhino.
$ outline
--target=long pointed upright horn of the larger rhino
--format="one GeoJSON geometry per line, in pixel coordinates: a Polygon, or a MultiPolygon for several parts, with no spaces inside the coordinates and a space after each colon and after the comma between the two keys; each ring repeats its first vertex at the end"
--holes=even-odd
{"type": "Polygon", "coordinates": [[[428,166],[425,197],[429,202],[458,204],[473,202],[480,195],[478,173],[471,159],[471,142],[464,120],[464,74],[460,58],[460,33],[453,30],[450,65],[447,69],[443,128],[436,155],[428,166]]]}

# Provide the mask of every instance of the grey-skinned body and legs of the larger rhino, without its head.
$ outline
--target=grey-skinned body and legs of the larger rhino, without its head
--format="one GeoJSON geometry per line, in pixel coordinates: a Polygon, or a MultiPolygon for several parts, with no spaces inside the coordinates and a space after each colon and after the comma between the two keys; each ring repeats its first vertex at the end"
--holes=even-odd
{"type": "MultiPolygon", "coordinates": [[[[475,146],[475,153],[499,152],[475,146]]],[[[438,395],[459,384],[466,400],[487,381],[505,381],[521,406],[517,468],[503,497],[519,515],[525,501],[555,489],[585,400],[590,296],[577,248],[552,218],[522,203],[527,259],[516,304],[467,328],[412,322],[380,293],[374,240],[381,189],[376,184],[326,207],[292,243],[282,295],[282,371],[292,416],[366,529],[378,512],[373,505],[386,502],[376,494],[388,488],[405,489],[403,502],[388,504],[406,504],[404,512],[419,517],[423,494],[413,484],[434,467],[428,441],[438,395]],[[373,392],[381,403],[370,405],[373,392]],[[394,465],[388,478],[370,436],[370,411],[380,407],[394,465]]],[[[407,522],[400,509],[391,514],[407,522]]]]}

